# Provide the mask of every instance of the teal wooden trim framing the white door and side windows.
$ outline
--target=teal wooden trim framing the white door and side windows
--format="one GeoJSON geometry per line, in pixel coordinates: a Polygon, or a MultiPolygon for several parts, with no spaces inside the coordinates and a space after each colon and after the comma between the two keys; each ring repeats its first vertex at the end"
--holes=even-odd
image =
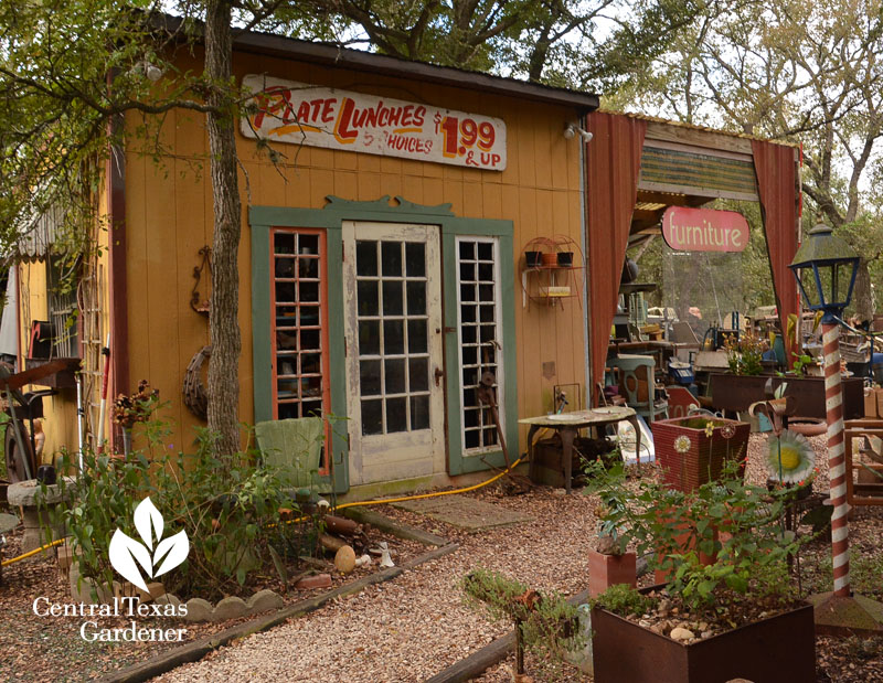
{"type": "MultiPolygon", "coordinates": [[[[502,451],[482,453],[482,458],[464,456],[461,447],[460,402],[462,394],[461,373],[458,359],[457,331],[457,273],[455,237],[493,236],[499,239],[500,296],[503,328],[503,372],[506,442],[510,459],[518,452],[518,385],[515,373],[515,321],[514,321],[514,253],[512,250],[513,224],[511,221],[468,218],[455,216],[450,204],[425,206],[396,196],[397,205],[390,204],[390,196],[373,202],[353,202],[329,196],[322,209],[296,209],[287,206],[251,206],[248,223],[252,228],[252,341],[254,372],[255,421],[273,419],[270,292],[268,268],[270,267],[269,231],[272,227],[326,228],[328,249],[328,318],[330,329],[329,362],[331,367],[331,412],[337,417],[347,417],[347,382],[344,376],[343,335],[343,281],[334,274],[342,273],[343,221],[376,221],[384,223],[419,223],[438,225],[442,231],[442,280],[445,320],[445,381],[447,402],[447,452],[448,472],[462,474],[499,468],[504,465],[502,451]],[[507,258],[511,256],[511,258],[507,258]]],[[[342,423],[339,430],[345,430],[342,423]]],[[[349,457],[344,439],[333,439],[334,491],[349,489],[349,457]]],[[[330,479],[327,480],[330,485],[330,479]]]]}

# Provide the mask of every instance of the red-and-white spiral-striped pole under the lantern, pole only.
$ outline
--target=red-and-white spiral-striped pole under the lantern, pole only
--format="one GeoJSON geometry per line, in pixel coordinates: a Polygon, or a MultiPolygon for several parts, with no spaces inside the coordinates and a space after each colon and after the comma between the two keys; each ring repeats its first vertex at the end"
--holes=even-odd
{"type": "Polygon", "coordinates": [[[825,407],[828,418],[828,467],[831,480],[831,554],[834,595],[849,597],[849,504],[843,449],[843,392],[840,386],[840,326],[822,321],[825,353],[825,407]]]}

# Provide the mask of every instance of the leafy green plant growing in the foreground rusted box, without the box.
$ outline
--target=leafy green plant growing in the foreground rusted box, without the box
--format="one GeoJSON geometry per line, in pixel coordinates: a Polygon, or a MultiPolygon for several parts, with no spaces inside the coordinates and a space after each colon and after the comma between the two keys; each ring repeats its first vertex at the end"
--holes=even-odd
{"type": "Polygon", "coordinates": [[[802,542],[779,525],[789,491],[744,483],[735,463],[722,481],[692,493],[647,479],[626,485],[621,465],[591,463],[586,473],[586,491],[598,494],[606,510],[600,533],[618,534],[640,555],[649,554],[650,568],[669,573],[668,590],[689,606],[708,606],[722,589],[784,593],[777,568],[802,542]],[[705,565],[701,555],[716,559],[705,565]]]}

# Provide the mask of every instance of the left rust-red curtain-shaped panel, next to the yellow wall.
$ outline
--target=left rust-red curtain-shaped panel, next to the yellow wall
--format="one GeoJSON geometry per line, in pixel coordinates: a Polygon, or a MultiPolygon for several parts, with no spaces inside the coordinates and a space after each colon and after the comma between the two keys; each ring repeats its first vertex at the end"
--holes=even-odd
{"type": "MultiPolygon", "coordinates": [[[[647,121],[595,111],[586,117],[586,127],[593,135],[585,147],[586,244],[592,381],[597,384],[604,380],[610,326],[619,298],[647,121]]],[[[594,387],[589,395],[595,396],[594,387]]]]}

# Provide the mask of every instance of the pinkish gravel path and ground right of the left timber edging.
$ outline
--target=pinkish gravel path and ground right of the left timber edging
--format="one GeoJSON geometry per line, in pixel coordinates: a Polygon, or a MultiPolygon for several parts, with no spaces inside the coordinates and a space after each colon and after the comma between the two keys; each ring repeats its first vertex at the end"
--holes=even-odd
{"type": "MultiPolygon", "coordinates": [[[[819,453],[817,491],[828,489],[825,437],[810,439],[819,453]]],[[[763,465],[766,437],[752,436],[746,477],[766,481],[763,465]]],[[[488,488],[474,495],[526,512],[532,523],[464,534],[422,515],[380,508],[379,512],[457,540],[453,555],[292,620],[272,631],[223,648],[201,662],[188,664],[158,681],[423,681],[488,644],[509,630],[464,606],[458,579],[477,566],[496,569],[538,589],[573,595],[587,585],[586,554],[595,536],[596,500],[561,495],[541,488],[520,497],[502,497],[488,488]]],[[[853,526],[883,532],[883,515],[863,512],[853,526]]],[[[857,533],[858,532],[857,530],[857,533]]],[[[877,536],[879,537],[879,536],[877,536]]],[[[880,547],[872,545],[871,547],[880,547]]],[[[817,548],[825,555],[823,544],[817,548]]],[[[861,644],[819,639],[819,681],[883,681],[883,652],[861,644]],[[858,652],[858,657],[853,657],[858,652]],[[850,666],[854,666],[850,669],[850,666]]],[[[528,671],[535,670],[528,658],[528,671]]],[[[512,681],[510,657],[479,680],[512,681]]],[[[589,681],[573,670],[572,681],[589,681]]]]}

